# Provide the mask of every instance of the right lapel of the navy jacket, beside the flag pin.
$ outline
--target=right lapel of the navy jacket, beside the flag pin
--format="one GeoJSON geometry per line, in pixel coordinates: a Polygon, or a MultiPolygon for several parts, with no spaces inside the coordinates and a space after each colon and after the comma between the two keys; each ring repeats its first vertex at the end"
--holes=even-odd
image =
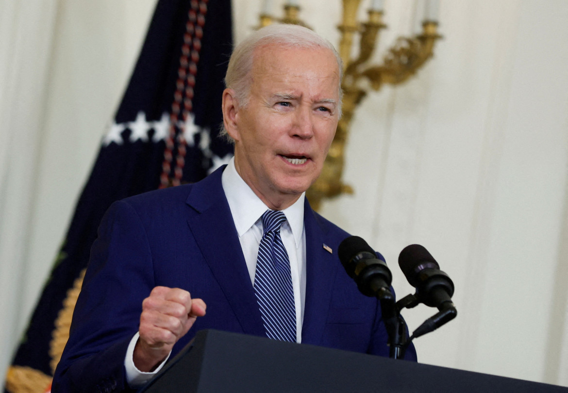
{"type": "Polygon", "coordinates": [[[307,199],[304,205],[306,229],[306,304],[302,324],[302,343],[318,345],[323,335],[333,281],[337,273],[337,250],[324,249],[327,224],[318,220],[307,199]]]}

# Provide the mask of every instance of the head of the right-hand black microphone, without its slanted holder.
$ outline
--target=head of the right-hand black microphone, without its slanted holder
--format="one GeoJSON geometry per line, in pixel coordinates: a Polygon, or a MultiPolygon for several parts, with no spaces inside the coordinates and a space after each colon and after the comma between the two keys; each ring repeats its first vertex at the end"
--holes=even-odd
{"type": "Polygon", "coordinates": [[[400,252],[398,264],[410,285],[416,288],[420,302],[438,310],[453,307],[454,283],[423,246],[411,244],[405,247],[400,252]]]}

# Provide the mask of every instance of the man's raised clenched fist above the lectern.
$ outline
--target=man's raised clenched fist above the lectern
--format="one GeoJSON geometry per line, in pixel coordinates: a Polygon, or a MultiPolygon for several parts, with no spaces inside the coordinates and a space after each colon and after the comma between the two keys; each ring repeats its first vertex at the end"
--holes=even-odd
{"type": "Polygon", "coordinates": [[[198,316],[205,315],[202,299],[191,299],[188,291],[157,286],[142,302],[140,338],[134,348],[134,365],[152,371],[189,331],[198,316]]]}

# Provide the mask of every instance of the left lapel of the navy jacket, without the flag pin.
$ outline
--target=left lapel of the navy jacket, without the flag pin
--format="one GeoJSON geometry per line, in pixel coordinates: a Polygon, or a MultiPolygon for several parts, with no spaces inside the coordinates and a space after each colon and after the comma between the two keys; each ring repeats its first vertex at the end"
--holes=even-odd
{"type": "Polygon", "coordinates": [[[187,204],[194,210],[187,223],[243,332],[265,336],[247,264],[221,184],[222,173],[223,169],[219,169],[193,186],[187,204]]]}

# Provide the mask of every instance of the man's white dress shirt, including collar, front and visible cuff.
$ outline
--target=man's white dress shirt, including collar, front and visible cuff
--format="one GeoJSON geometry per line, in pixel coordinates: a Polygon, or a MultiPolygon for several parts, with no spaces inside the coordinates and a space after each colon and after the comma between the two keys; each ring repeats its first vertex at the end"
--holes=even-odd
{"type": "MultiPolygon", "coordinates": [[[[235,159],[232,158],[221,178],[223,190],[231,215],[235,222],[239,242],[243,249],[245,262],[250,276],[250,282],[254,284],[256,273],[256,260],[258,245],[262,239],[261,216],[268,206],[264,204],[241,178],[235,168],[235,159]]],[[[296,308],[296,342],[302,341],[302,322],[304,319],[304,305],[306,303],[306,233],[304,231],[304,198],[302,193],[298,200],[289,208],[282,210],[286,215],[286,222],[282,223],[280,235],[286,247],[290,259],[290,273],[292,276],[292,289],[294,290],[294,304],[296,308]]],[[[203,299],[207,303],[207,299],[203,299]]],[[[152,373],[144,373],[136,368],[133,361],[134,347],[138,341],[139,333],[136,333],[124,360],[126,378],[131,387],[136,388],[149,381],[164,366],[164,360],[152,373]]]]}

